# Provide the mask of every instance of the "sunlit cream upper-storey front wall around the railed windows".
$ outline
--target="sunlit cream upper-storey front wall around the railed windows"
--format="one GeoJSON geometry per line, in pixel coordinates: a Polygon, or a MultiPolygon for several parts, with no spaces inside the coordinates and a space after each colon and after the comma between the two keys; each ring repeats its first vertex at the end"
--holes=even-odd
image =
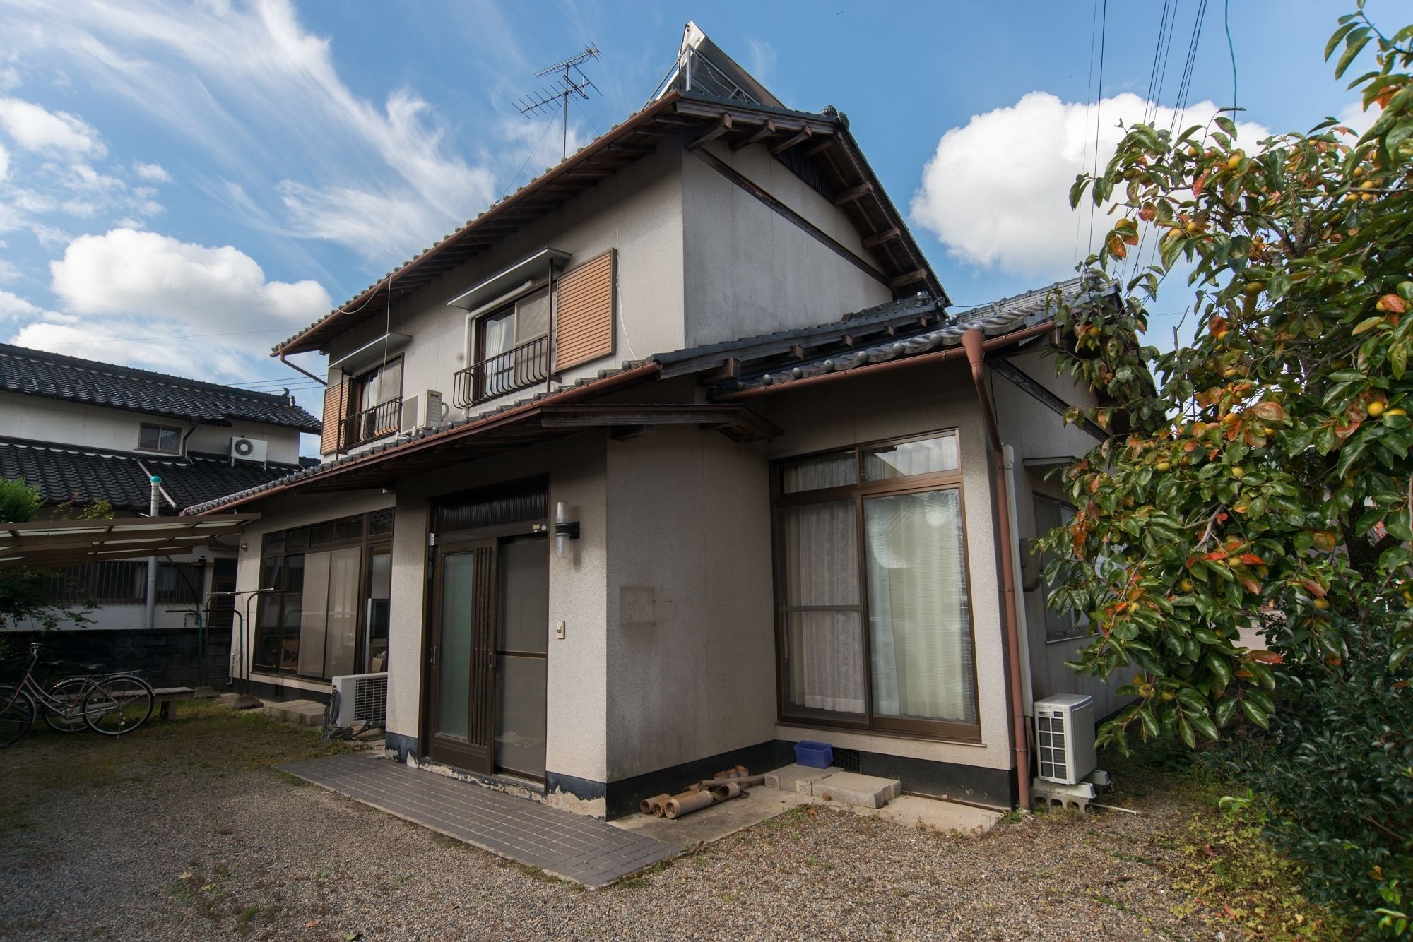
{"type": "MultiPolygon", "coordinates": [[[[372,318],[339,336],[331,350],[332,359],[382,336],[384,323],[390,323],[393,332],[413,338],[401,349],[403,395],[438,390],[449,407],[452,374],[468,362],[466,312],[447,302],[547,246],[571,253],[571,268],[617,249],[613,353],[560,374],[560,381],[572,383],[623,360],[684,346],[682,157],[680,144],[663,144],[657,153],[394,304],[386,322],[382,316],[372,318]]],[[[473,411],[486,411],[533,391],[519,390],[479,404],[473,411]]],[[[461,411],[452,407],[452,414],[461,411]]]]}

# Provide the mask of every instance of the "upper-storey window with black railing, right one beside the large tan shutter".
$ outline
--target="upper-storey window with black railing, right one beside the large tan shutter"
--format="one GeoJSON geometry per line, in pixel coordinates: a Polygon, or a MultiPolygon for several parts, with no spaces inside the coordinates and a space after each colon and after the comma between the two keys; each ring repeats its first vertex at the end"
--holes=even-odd
{"type": "Polygon", "coordinates": [[[468,376],[472,401],[543,383],[550,357],[550,287],[476,318],[472,330],[473,366],[468,376]]]}

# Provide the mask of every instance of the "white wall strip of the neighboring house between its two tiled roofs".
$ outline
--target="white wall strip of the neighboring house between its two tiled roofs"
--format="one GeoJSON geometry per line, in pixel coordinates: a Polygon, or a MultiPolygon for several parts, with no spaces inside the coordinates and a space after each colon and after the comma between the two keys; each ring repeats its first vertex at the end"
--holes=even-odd
{"type": "MultiPolygon", "coordinates": [[[[0,393],[0,435],[37,442],[81,445],[114,452],[137,452],[143,422],[171,425],[185,435],[191,425],[162,415],[146,415],[106,405],[85,405],[41,395],[0,393]]],[[[292,428],[237,421],[233,427],[198,425],[187,442],[188,451],[223,455],[232,435],[263,438],[270,442],[270,460],[294,465],[300,460],[300,432],[292,428]]],[[[148,452],[153,458],[171,458],[148,452]]]]}

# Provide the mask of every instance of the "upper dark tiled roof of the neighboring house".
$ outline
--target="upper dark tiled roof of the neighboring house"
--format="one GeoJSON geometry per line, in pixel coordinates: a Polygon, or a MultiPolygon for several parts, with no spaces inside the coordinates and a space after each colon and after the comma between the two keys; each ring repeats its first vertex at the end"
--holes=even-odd
{"type": "Polygon", "coordinates": [[[0,343],[0,390],[230,425],[232,419],[318,434],[319,421],[277,393],[254,393],[0,343]]]}

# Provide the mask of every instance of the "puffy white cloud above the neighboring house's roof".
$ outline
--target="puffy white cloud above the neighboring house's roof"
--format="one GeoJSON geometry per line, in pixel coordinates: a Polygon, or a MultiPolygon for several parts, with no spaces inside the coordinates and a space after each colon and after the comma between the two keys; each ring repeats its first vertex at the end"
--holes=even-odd
{"type": "Polygon", "coordinates": [[[304,326],[332,308],[317,281],[266,281],[235,246],[195,246],[154,232],[79,236],[49,263],[52,290],[75,314],[137,314],[188,323],[304,326]]]}

